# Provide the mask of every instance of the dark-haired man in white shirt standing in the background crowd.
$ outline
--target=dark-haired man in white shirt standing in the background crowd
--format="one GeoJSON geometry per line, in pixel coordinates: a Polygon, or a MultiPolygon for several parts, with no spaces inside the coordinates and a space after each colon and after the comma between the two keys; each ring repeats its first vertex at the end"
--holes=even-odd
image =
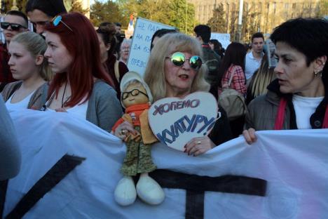
{"type": "Polygon", "coordinates": [[[245,61],[245,77],[247,81],[250,81],[254,72],[259,69],[261,65],[261,60],[263,58],[263,46],[264,46],[264,36],[262,33],[258,32],[252,35],[252,51],[246,54],[245,61]]]}

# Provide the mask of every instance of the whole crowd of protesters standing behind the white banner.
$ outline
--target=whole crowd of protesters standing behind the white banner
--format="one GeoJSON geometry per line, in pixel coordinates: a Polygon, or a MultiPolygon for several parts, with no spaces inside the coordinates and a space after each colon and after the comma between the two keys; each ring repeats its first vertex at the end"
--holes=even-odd
{"type": "MultiPolygon", "coordinates": [[[[120,25],[104,21],[95,28],[85,15],[67,13],[60,0],[29,0],[26,13],[8,11],[1,22],[6,42],[0,46],[0,180],[15,176],[20,166],[7,110],[74,114],[109,133],[123,115],[120,82],[129,71],[131,39],[118,39],[120,25]],[[35,32],[27,28],[27,16],[35,32]]],[[[153,35],[144,74],[153,100],[196,91],[218,98],[232,88],[247,112],[231,119],[219,105],[221,117],[210,134],[191,139],[186,154],[199,156],[239,135],[252,144],[260,130],[328,128],[327,20],[287,20],[270,36],[275,51],[261,33],[252,35],[249,53],[238,42],[224,50],[210,39],[207,25],[196,26],[194,35],[176,29],[153,35]],[[272,53],[275,66],[268,65],[272,53]]],[[[124,139],[128,132],[135,128],[123,122],[112,134],[124,139]]]]}

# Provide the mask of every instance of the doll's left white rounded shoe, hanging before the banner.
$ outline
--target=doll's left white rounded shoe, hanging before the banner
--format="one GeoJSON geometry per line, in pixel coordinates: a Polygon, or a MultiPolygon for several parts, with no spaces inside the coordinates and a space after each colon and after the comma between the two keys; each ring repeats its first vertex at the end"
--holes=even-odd
{"type": "Polygon", "coordinates": [[[128,206],[135,202],[137,192],[135,190],[135,182],[132,177],[124,176],[117,184],[114,199],[121,206],[128,206]]]}

